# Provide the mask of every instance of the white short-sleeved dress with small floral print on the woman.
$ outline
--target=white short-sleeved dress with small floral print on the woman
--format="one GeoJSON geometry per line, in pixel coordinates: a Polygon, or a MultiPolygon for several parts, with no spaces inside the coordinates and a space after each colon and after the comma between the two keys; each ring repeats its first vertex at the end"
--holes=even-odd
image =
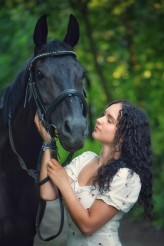
{"type": "Polygon", "coordinates": [[[93,189],[92,186],[80,187],[77,181],[78,174],[95,157],[97,157],[95,153],[88,151],[73,159],[65,167],[68,175],[73,180],[71,186],[85,209],[90,208],[95,199],[102,199],[119,211],[94,234],[84,236],[66,210],[68,218],[67,246],[121,246],[118,236],[119,221],[123,214],[132,208],[139,196],[141,189],[140,178],[136,173],[131,174],[128,168],[120,168],[118,170],[110,184],[110,190],[105,194],[100,194],[98,188],[93,189]]]}

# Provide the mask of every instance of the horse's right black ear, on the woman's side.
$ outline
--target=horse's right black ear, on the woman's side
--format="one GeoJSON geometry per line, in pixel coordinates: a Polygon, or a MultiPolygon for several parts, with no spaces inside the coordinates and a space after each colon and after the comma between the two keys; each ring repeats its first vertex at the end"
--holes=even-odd
{"type": "Polygon", "coordinates": [[[79,23],[72,14],[69,17],[67,33],[63,41],[72,47],[74,47],[79,41],[79,23]]]}

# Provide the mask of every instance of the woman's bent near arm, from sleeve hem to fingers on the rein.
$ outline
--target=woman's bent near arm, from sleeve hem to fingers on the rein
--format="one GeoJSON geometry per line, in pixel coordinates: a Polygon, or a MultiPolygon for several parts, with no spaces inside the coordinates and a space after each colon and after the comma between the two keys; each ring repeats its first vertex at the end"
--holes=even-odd
{"type": "Polygon", "coordinates": [[[60,189],[72,219],[84,235],[93,234],[118,212],[115,207],[102,200],[96,200],[91,208],[86,210],[72,190],[66,171],[56,160],[48,163],[48,175],[60,189]]]}

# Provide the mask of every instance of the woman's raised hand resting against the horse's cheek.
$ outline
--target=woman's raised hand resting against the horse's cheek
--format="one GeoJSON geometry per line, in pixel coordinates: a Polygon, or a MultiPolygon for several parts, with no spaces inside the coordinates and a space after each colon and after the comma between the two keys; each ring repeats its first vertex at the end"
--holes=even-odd
{"type": "Polygon", "coordinates": [[[35,125],[36,125],[36,127],[38,129],[38,132],[41,135],[43,141],[47,142],[47,143],[50,143],[51,142],[51,138],[49,136],[49,133],[46,131],[46,129],[42,125],[42,122],[39,119],[38,113],[35,114],[34,123],[35,123],[35,125]]]}

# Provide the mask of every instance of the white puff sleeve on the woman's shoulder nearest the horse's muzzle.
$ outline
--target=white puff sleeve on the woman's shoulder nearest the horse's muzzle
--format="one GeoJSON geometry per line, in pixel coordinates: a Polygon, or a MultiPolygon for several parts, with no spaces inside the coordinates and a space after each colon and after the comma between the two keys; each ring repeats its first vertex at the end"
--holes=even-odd
{"type": "Polygon", "coordinates": [[[96,156],[95,153],[87,151],[75,157],[70,164],[65,167],[68,176],[70,176],[73,181],[76,181],[81,169],[96,156]]]}

